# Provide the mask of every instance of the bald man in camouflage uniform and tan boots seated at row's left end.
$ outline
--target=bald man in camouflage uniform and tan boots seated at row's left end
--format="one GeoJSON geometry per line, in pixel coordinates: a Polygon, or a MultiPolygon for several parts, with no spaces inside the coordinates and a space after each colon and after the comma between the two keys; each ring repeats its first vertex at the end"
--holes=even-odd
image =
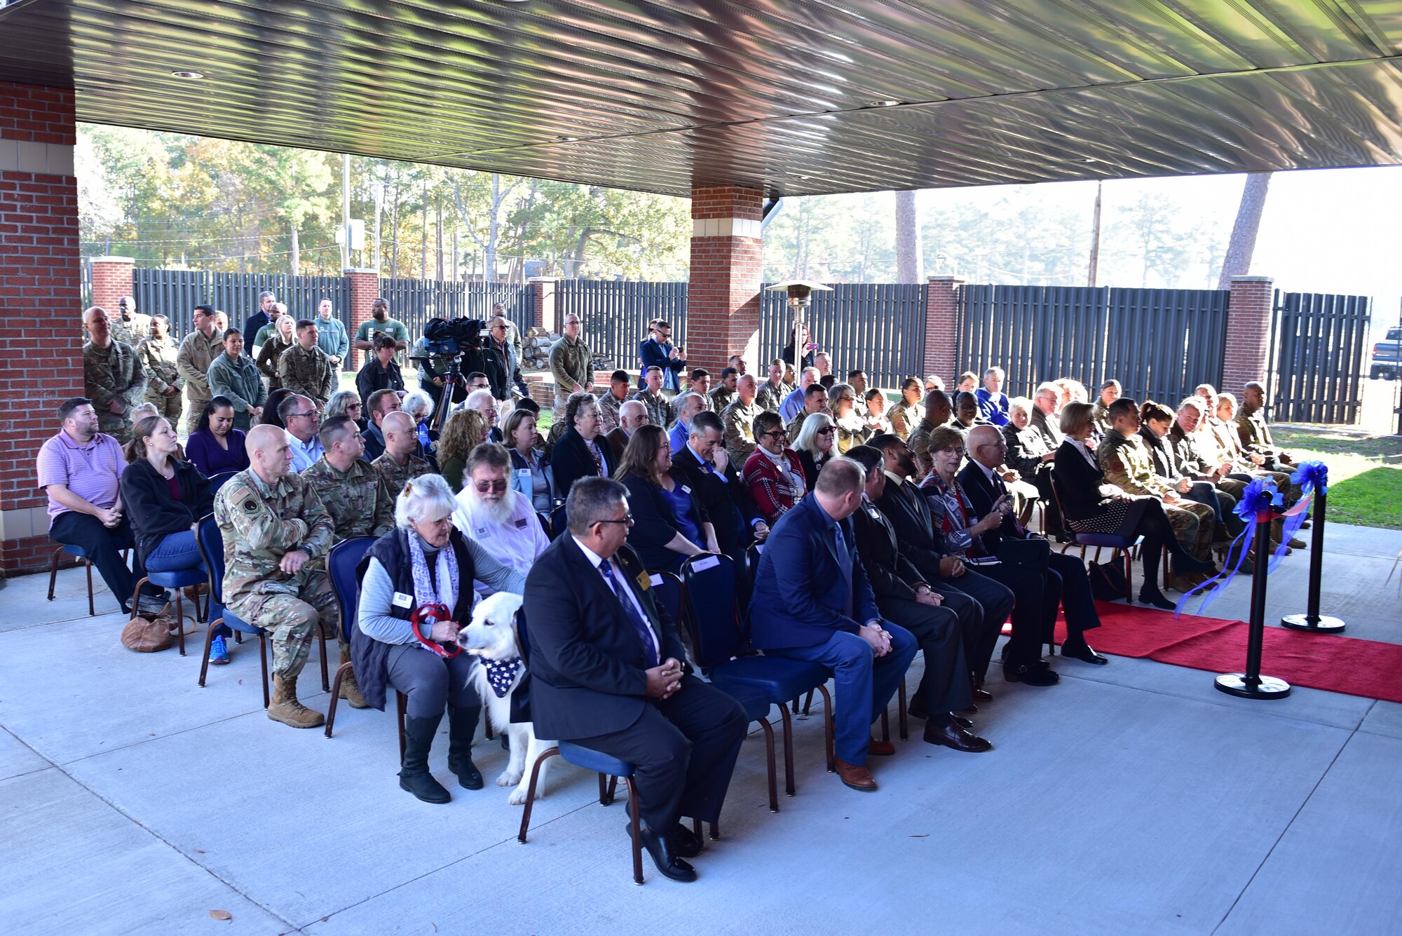
{"type": "Polygon", "coordinates": [[[318,622],[328,636],[339,632],[325,569],[313,562],[331,549],[331,514],[311,485],[289,471],[287,433],[254,426],[247,446],[248,468],[215,496],[224,538],[224,605],[272,638],[268,717],[310,729],[324,719],[297,701],[297,677],[318,622]]]}

